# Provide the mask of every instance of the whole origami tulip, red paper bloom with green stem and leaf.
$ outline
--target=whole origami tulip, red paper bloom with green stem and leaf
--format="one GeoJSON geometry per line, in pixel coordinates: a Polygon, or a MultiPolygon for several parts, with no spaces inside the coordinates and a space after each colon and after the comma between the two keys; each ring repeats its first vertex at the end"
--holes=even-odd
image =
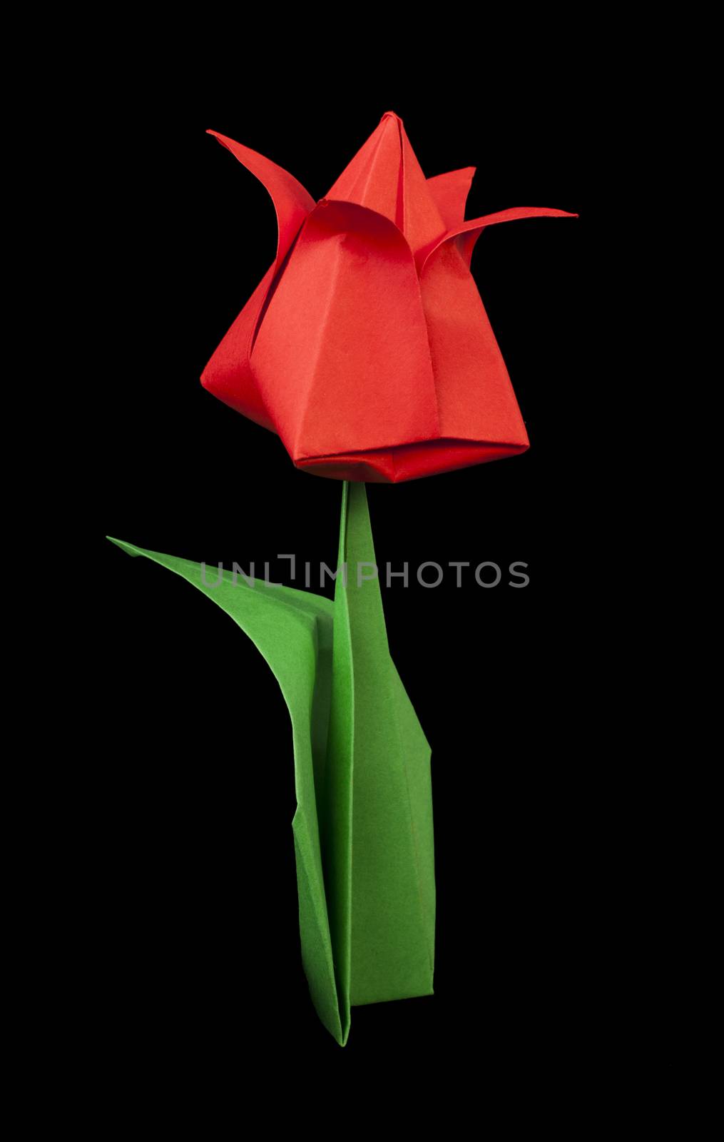
{"type": "Polygon", "coordinates": [[[486,226],[566,212],[464,222],[473,168],[426,179],[392,112],[316,203],[268,159],[216,138],[268,190],[279,240],[202,381],[276,432],[297,467],[345,481],[335,600],[227,573],[212,586],[202,565],[112,541],[203,590],[281,686],[303,964],[344,1045],[352,1007],[433,995],[435,964],[431,747],[391,658],[378,580],[345,573],[376,568],[363,482],[529,447],[470,256],[486,226]]]}

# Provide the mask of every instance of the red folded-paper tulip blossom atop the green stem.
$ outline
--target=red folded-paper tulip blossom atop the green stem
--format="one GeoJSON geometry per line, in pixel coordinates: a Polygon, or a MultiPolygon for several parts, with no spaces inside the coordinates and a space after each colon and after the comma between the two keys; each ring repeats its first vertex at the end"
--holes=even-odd
{"type": "Polygon", "coordinates": [[[399,482],[529,448],[469,271],[486,226],[577,217],[517,207],[465,222],[475,168],[425,178],[386,112],[319,202],[256,151],[209,131],[264,184],[276,257],[201,381],[276,432],[298,468],[399,482]]]}

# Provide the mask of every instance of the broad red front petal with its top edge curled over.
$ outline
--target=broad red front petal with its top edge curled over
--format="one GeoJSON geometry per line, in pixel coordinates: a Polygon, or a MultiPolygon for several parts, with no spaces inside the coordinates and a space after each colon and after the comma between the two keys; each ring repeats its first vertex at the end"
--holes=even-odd
{"type": "Polygon", "coordinates": [[[439,435],[419,282],[392,222],[322,200],[272,292],[251,369],[295,463],[439,435]]]}

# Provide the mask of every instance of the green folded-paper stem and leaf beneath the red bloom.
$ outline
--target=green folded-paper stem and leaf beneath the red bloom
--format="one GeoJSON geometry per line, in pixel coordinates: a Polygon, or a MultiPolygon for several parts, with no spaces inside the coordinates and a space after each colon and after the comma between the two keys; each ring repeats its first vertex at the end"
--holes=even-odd
{"type": "Polygon", "coordinates": [[[343,485],[333,603],[230,571],[207,586],[199,563],[112,542],[208,595],[279,682],[292,725],[301,958],[344,1046],[351,1007],[433,994],[435,954],[431,751],[389,657],[378,579],[359,581],[376,563],[364,484],[343,485]]]}

